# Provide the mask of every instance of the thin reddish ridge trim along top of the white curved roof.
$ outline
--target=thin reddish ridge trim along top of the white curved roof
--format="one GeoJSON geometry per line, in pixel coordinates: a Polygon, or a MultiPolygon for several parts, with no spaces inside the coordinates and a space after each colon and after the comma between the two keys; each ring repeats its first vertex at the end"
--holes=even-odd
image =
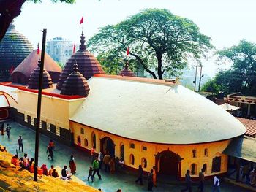
{"type": "Polygon", "coordinates": [[[162,85],[174,85],[173,82],[168,82],[166,80],[156,80],[156,79],[149,79],[149,78],[143,78],[143,77],[128,77],[128,76],[110,75],[110,74],[94,74],[93,77],[105,77],[105,78],[116,79],[116,80],[131,80],[136,82],[151,82],[151,83],[162,84],[162,85]]]}

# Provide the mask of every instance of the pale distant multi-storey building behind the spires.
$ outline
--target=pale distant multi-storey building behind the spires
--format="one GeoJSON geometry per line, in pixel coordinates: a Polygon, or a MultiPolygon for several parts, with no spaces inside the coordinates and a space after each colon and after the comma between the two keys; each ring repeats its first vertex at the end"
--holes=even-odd
{"type": "Polygon", "coordinates": [[[54,61],[66,64],[73,53],[73,42],[62,37],[54,37],[47,41],[46,52],[54,61]]]}

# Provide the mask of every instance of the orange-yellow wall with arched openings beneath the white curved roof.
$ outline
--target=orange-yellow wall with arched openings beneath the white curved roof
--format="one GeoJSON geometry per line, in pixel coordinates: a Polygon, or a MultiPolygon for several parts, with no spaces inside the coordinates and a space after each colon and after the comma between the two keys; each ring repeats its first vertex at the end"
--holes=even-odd
{"type": "MultiPolygon", "coordinates": [[[[144,171],[149,172],[153,166],[156,165],[155,155],[161,153],[162,151],[170,150],[173,153],[178,154],[183,160],[181,160],[181,177],[187,172],[187,169],[191,170],[192,164],[196,164],[195,174],[192,177],[198,177],[200,170],[203,168],[203,164],[207,165],[205,175],[211,176],[215,174],[221,174],[227,172],[227,155],[222,154],[222,151],[225,150],[227,145],[230,143],[230,140],[211,142],[204,144],[196,145],[162,145],[155,144],[150,142],[140,142],[132,139],[126,139],[124,137],[119,137],[114,134],[108,134],[104,131],[100,131],[89,126],[84,126],[79,123],[70,121],[70,128],[74,133],[74,142],[75,145],[78,144],[78,137],[80,137],[81,144],[80,147],[83,147],[87,150],[91,150],[93,146],[92,134],[96,135],[96,153],[99,153],[100,150],[100,139],[104,137],[110,137],[115,144],[115,155],[120,157],[120,147],[121,144],[124,144],[124,164],[129,167],[138,169],[138,166],[142,164],[142,158],[146,158],[147,167],[143,168],[144,171]],[[83,134],[81,131],[83,128],[83,134]],[[85,139],[87,139],[88,145],[86,146],[85,139]],[[133,143],[135,148],[130,148],[130,144],[133,143]],[[143,147],[146,147],[147,150],[143,150],[143,147]],[[207,156],[204,154],[205,149],[208,150],[207,156]],[[196,157],[193,158],[192,150],[196,150],[196,157]],[[135,157],[135,164],[132,165],[129,163],[129,155],[132,154],[135,157]],[[220,172],[211,172],[213,158],[221,156],[221,169],[220,172]]],[[[159,166],[158,166],[159,167],[159,166]]],[[[158,170],[159,171],[159,170],[158,170]]]]}

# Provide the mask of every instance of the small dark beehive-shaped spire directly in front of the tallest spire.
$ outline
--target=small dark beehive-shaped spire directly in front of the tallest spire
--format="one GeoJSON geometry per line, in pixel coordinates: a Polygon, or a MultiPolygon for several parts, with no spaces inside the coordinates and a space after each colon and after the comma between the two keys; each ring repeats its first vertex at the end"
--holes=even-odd
{"type": "Polygon", "coordinates": [[[83,74],[78,72],[78,64],[74,64],[73,72],[69,74],[67,80],[64,81],[61,88],[61,95],[78,95],[88,96],[90,91],[89,85],[83,74]]]}

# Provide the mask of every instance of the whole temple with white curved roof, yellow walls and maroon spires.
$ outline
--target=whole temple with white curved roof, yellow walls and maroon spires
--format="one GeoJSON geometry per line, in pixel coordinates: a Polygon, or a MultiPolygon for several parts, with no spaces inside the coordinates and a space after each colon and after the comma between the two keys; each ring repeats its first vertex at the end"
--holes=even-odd
{"type": "MultiPolygon", "coordinates": [[[[127,77],[130,72],[105,74],[86,49],[83,33],[80,38],[80,50],[69,58],[57,83],[51,83],[52,74],[45,66],[43,134],[85,153],[95,147],[96,153],[124,158],[130,169],[141,164],[148,172],[156,166],[159,174],[177,178],[184,177],[187,169],[192,177],[198,177],[201,169],[206,177],[227,172],[228,156],[222,152],[246,132],[239,120],[178,81],[127,77]]],[[[0,110],[35,128],[38,59],[31,62],[33,67],[26,69],[28,84],[19,83],[15,71],[13,82],[1,83],[0,110]]]]}

